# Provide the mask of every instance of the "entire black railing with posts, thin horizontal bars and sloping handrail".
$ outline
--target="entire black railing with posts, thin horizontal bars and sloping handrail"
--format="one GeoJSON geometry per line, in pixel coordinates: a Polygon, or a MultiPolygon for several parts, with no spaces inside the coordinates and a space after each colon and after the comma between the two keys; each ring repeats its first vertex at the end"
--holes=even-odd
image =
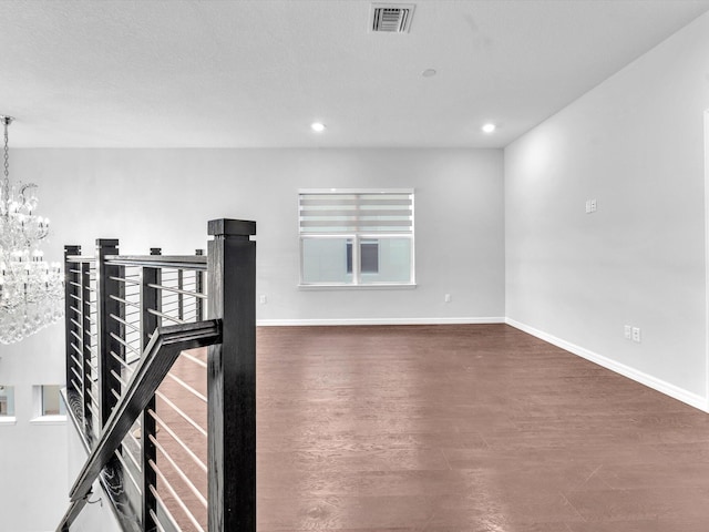
{"type": "Polygon", "coordinates": [[[255,224],[214,221],[209,234],[209,259],[157,248],[125,256],[109,239],[94,257],[66,247],[66,397],[90,458],[58,530],[70,530],[100,471],[124,530],[255,530],[255,224]],[[225,326],[236,341],[222,341],[225,326]],[[191,330],[206,339],[192,338],[163,368],[167,355],[151,346],[191,330]],[[239,367],[254,375],[235,390],[226,379],[239,367]],[[238,452],[225,446],[234,416],[253,432],[239,434],[238,452]],[[227,477],[235,468],[246,482],[227,477]]]}

